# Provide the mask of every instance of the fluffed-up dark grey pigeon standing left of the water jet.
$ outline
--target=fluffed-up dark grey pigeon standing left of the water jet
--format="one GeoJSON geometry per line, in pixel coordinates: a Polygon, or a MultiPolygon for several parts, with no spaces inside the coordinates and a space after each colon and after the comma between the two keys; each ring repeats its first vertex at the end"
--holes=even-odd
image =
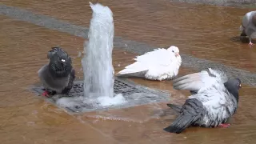
{"type": "Polygon", "coordinates": [[[43,95],[68,94],[73,87],[75,71],[70,56],[60,47],[52,47],[47,58],[50,62],[38,70],[45,88],[43,95]]]}

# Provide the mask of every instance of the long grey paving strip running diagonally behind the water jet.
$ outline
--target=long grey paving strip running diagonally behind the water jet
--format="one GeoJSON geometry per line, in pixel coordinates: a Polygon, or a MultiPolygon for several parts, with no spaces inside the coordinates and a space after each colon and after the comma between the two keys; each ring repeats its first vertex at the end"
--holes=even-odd
{"type": "MultiPolygon", "coordinates": [[[[29,10],[20,9],[13,6],[0,5],[0,14],[6,15],[10,18],[18,19],[20,21],[30,22],[38,26],[44,26],[50,30],[58,30],[78,37],[88,38],[89,28],[76,26],[70,22],[63,22],[56,18],[51,18],[50,16],[34,14],[29,10]]],[[[150,46],[143,42],[124,40],[122,37],[117,36],[114,37],[114,47],[135,54],[144,54],[156,48],[156,46],[150,46]]],[[[206,70],[209,67],[223,70],[231,78],[238,77],[246,85],[256,86],[256,74],[254,73],[234,68],[233,66],[226,66],[218,62],[211,62],[202,58],[194,58],[188,54],[181,54],[181,56],[182,66],[184,67],[189,67],[195,70],[206,70]]]]}

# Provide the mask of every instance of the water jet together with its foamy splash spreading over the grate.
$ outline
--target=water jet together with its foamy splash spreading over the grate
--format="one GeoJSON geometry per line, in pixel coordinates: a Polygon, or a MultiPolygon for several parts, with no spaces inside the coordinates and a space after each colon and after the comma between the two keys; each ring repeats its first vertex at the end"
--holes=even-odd
{"type": "MultiPolygon", "coordinates": [[[[78,94],[78,97],[57,98],[56,104],[65,109],[69,108],[68,110],[72,110],[73,112],[80,112],[108,110],[109,108],[114,108],[114,106],[119,107],[121,105],[124,107],[138,106],[145,102],[157,102],[157,100],[170,98],[170,94],[164,94],[164,97],[160,97],[162,93],[148,94],[138,92],[130,94],[129,98],[126,95],[127,99],[122,94],[114,94],[114,68],[112,66],[114,23],[112,12],[109,7],[102,6],[98,3],[95,5],[90,3],[90,7],[93,10],[93,18],[90,21],[89,42],[85,42],[85,54],[82,58],[84,94],[83,96],[78,94]]],[[[146,88],[142,90],[150,89],[146,88]]],[[[153,90],[150,91],[153,92],[153,90]]],[[[127,118],[124,118],[126,115],[122,114],[106,114],[107,116],[105,115],[103,117],[126,120],[127,118]]],[[[143,116],[143,118],[145,117],[143,116]]],[[[146,118],[146,121],[150,118],[146,118]]],[[[128,119],[130,120],[130,116],[128,119]]]]}

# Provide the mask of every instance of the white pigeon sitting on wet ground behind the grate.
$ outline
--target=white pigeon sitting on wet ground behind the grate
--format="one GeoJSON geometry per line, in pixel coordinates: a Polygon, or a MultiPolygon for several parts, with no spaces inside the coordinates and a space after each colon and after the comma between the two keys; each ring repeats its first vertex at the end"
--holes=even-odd
{"type": "Polygon", "coordinates": [[[118,77],[140,77],[150,80],[172,79],[178,75],[182,58],[177,46],[158,48],[134,58],[136,62],[118,72],[118,77]]]}

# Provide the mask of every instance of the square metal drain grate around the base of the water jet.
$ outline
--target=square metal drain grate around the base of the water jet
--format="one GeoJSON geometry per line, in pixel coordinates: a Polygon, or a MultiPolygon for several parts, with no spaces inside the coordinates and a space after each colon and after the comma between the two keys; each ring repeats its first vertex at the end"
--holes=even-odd
{"type": "MultiPolygon", "coordinates": [[[[43,97],[42,88],[42,86],[33,86],[31,90],[38,94],[41,98],[44,98],[47,102],[57,105],[56,102],[58,101],[58,96],[52,98],[43,97]]],[[[100,106],[97,105],[97,103],[84,103],[82,100],[80,100],[80,102],[79,100],[76,100],[75,106],[66,106],[64,109],[70,114],[78,114],[82,112],[126,108],[131,106],[145,105],[152,102],[166,102],[170,100],[170,94],[166,91],[153,90],[146,86],[140,86],[134,82],[121,78],[114,79],[114,93],[122,94],[123,97],[126,98],[126,102],[117,106],[100,106]]],[[[70,90],[69,96],[70,98],[78,98],[83,96],[83,81],[74,82],[73,89],[70,90]]]]}

